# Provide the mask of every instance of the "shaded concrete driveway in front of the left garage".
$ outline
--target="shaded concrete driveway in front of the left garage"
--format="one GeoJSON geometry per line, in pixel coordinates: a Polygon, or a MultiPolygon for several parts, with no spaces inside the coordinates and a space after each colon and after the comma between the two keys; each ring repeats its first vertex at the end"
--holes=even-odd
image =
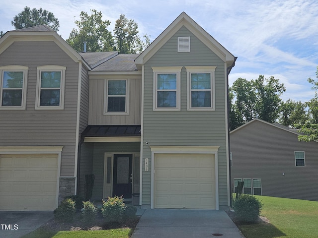
{"type": "Polygon", "coordinates": [[[0,211],[0,238],[20,238],[53,216],[53,211],[0,211]]]}

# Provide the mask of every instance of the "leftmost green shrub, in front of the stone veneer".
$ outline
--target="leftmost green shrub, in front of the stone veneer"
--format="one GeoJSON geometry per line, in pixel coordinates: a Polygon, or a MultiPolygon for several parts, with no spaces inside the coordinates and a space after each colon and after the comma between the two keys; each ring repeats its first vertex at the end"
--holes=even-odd
{"type": "Polygon", "coordinates": [[[63,222],[70,222],[73,221],[75,213],[75,201],[71,198],[67,198],[55,209],[54,218],[63,222]]]}

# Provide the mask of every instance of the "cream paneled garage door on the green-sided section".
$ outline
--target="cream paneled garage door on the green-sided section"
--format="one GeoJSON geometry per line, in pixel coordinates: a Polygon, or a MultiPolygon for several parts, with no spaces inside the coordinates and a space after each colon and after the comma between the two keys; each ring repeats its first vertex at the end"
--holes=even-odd
{"type": "Polygon", "coordinates": [[[215,209],[213,154],[156,154],[155,208],[215,209]]]}

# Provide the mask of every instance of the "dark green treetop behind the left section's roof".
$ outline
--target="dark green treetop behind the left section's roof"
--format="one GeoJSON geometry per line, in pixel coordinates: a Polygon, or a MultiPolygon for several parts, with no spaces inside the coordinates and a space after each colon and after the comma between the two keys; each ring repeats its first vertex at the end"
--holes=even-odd
{"type": "Polygon", "coordinates": [[[43,10],[42,8],[33,8],[30,10],[30,7],[28,6],[24,7],[24,10],[13,18],[11,24],[15,29],[45,24],[50,26],[55,31],[58,31],[60,26],[58,19],[54,17],[52,12],[43,10]]]}

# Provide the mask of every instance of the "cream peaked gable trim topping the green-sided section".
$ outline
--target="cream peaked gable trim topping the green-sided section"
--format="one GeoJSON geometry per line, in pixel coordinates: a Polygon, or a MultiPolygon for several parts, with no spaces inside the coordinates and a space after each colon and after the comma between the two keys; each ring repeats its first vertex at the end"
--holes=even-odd
{"type": "Polygon", "coordinates": [[[199,40],[201,40],[212,52],[220,59],[227,62],[227,67],[230,67],[236,58],[217,42],[209,33],[198,25],[185,12],[182,12],[151,44],[140,54],[135,60],[137,65],[146,63],[155,53],[182,27],[185,26],[199,40]]]}

